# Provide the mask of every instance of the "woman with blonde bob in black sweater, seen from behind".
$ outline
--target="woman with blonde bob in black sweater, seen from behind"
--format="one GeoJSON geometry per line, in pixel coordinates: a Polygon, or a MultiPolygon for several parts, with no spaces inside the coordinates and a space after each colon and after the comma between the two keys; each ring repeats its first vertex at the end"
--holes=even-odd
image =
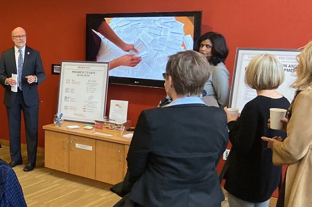
{"type": "Polygon", "coordinates": [[[267,126],[270,108],[289,107],[288,100],[276,91],[283,81],[283,66],[275,56],[256,55],[246,68],[245,82],[257,91],[257,97],[244,106],[239,118],[225,107],[232,143],[224,186],[230,207],[268,207],[278,187],[281,167],[273,165],[272,150],[261,136],[286,136],[267,126]]]}

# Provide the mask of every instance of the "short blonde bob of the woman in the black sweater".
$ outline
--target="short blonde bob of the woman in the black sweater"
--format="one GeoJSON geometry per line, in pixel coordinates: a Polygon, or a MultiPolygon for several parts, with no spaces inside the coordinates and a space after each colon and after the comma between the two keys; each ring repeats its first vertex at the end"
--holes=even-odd
{"type": "Polygon", "coordinates": [[[245,82],[256,90],[272,90],[284,81],[284,68],[277,57],[270,54],[254,56],[246,68],[245,82]]]}

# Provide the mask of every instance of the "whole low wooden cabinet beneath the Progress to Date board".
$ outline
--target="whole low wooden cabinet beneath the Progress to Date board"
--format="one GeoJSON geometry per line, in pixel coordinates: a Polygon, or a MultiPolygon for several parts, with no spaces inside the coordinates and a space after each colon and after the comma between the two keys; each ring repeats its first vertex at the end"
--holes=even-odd
{"type": "MultiPolygon", "coordinates": [[[[64,123],[63,125],[82,125],[64,123]]],[[[82,128],[81,126],[81,128],[82,128]]],[[[131,139],[119,132],[105,131],[111,137],[95,135],[93,130],[43,126],[45,135],[44,166],[109,184],[123,180],[131,139]]]]}

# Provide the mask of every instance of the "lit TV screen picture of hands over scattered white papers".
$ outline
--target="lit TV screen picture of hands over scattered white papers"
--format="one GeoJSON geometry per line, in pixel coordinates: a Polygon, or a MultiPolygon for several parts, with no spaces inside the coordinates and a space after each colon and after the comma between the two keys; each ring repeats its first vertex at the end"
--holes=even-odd
{"type": "Polygon", "coordinates": [[[193,49],[194,22],[187,16],[96,20],[90,28],[100,41],[92,57],[110,62],[109,76],[163,80],[168,56],[193,49]]]}

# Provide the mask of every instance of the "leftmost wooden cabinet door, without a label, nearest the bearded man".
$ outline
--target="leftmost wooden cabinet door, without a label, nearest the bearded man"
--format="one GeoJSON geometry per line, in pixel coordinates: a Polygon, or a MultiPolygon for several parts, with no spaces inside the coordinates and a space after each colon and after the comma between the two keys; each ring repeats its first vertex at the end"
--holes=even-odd
{"type": "Polygon", "coordinates": [[[69,172],[69,134],[44,131],[44,166],[69,172]]]}

